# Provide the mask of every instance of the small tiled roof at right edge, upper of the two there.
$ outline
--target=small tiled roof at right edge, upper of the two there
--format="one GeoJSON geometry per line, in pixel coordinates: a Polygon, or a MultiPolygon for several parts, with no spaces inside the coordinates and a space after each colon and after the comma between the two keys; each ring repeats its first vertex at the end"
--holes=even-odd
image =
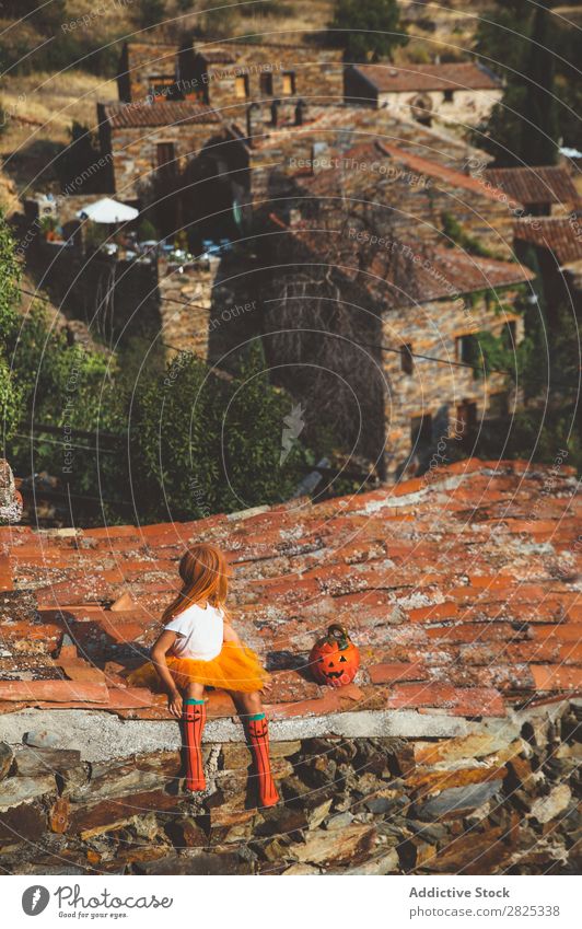
{"type": "Polygon", "coordinates": [[[520,204],[573,204],[580,199],[564,167],[488,167],[484,176],[520,204]]]}

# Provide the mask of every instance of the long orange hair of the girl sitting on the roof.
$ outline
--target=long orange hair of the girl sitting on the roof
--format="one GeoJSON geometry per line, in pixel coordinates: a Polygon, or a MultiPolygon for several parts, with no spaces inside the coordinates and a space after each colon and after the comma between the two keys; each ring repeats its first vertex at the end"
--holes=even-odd
{"type": "Polygon", "coordinates": [[[223,606],[229,592],[229,570],[224,553],[218,546],[201,543],[188,548],[179,562],[179,576],[183,587],[164,611],[164,623],[202,600],[211,606],[223,606]]]}

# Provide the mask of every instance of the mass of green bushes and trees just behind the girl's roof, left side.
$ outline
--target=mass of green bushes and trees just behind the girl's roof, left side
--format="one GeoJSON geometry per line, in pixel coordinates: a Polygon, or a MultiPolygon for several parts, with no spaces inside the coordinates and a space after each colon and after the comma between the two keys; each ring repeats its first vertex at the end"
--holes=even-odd
{"type": "Polygon", "coordinates": [[[97,522],[130,519],[124,501],[137,521],[156,522],[289,498],[306,452],[295,442],[280,464],[292,403],[269,383],[258,347],[231,379],[189,352],[160,363],[135,350],[131,363],[130,352],[69,345],[39,305],[21,315],[19,299],[14,243],[0,220],[0,411],[19,475],[46,471],[72,495],[112,501],[97,522]]]}

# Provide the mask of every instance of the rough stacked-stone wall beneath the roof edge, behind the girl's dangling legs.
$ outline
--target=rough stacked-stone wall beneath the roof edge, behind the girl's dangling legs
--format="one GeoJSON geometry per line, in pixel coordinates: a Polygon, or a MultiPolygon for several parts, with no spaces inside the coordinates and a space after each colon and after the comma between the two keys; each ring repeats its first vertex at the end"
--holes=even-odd
{"type": "Polygon", "coordinates": [[[272,742],[284,803],[264,811],[241,742],[206,745],[208,789],[193,799],[177,751],[88,762],[50,747],[50,731],[23,733],[0,745],[2,869],[575,873],[581,716],[562,701],[452,739],[272,742]]]}

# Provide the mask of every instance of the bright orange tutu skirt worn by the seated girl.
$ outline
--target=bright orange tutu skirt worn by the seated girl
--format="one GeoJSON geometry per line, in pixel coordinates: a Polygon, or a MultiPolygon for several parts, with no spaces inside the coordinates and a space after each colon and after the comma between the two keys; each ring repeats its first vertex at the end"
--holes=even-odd
{"type": "MultiPolygon", "coordinates": [[[[221,690],[243,690],[249,694],[253,690],[261,690],[270,676],[263,667],[258,654],[237,642],[224,642],[220,654],[210,661],[168,654],[166,663],[179,689],[184,689],[188,684],[202,684],[221,690]]],[[[163,690],[155,665],[151,661],[132,671],[127,681],[133,687],[163,690]]]]}

